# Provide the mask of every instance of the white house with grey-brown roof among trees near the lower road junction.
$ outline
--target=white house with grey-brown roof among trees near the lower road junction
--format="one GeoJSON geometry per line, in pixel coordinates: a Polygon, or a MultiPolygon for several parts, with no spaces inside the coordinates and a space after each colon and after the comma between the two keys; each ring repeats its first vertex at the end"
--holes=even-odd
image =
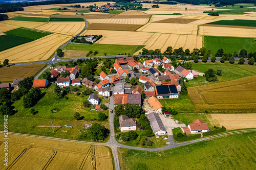
{"type": "Polygon", "coordinates": [[[136,130],[136,120],[129,118],[126,115],[119,116],[120,131],[132,131],[136,130]]]}

